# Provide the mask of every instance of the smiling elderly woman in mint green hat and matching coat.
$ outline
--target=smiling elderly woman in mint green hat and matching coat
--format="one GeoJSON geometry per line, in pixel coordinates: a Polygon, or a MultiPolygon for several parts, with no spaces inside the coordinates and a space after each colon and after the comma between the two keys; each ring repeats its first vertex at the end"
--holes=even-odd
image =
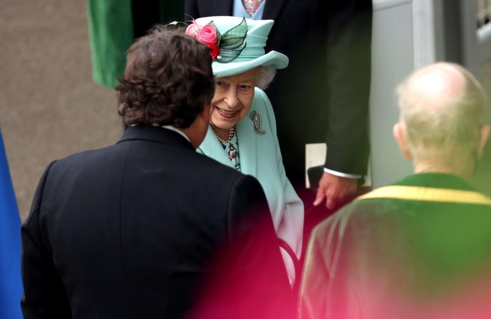
{"type": "MultiPolygon", "coordinates": [[[[199,18],[188,26],[186,33],[207,44],[214,58],[210,126],[197,151],[259,180],[278,238],[300,258],[303,203],[286,178],[275,114],[262,91],[273,80],[276,69],[288,65],[288,58],[281,53],[264,54],[273,23],[215,16],[199,18]]],[[[293,283],[294,262],[284,249],[282,254],[293,283]]]]}

